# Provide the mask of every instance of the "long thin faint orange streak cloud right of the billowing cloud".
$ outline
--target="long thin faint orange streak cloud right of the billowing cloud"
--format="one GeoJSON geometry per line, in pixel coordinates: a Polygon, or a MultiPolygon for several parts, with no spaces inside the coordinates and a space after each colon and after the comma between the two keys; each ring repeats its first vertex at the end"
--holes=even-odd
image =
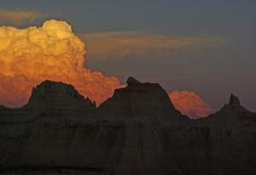
{"type": "Polygon", "coordinates": [[[91,59],[164,54],[173,50],[209,47],[224,42],[222,37],[171,37],[135,31],[94,32],[79,36],[87,43],[91,59]]]}

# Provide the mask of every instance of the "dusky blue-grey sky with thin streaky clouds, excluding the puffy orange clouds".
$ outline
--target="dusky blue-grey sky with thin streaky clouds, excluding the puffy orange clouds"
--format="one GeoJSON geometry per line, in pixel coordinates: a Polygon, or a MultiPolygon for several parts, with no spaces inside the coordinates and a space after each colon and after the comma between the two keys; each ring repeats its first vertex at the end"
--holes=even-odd
{"type": "Polygon", "coordinates": [[[195,91],[213,110],[235,93],[256,111],[255,9],[254,0],[1,0],[0,25],[65,20],[90,70],[195,91]]]}

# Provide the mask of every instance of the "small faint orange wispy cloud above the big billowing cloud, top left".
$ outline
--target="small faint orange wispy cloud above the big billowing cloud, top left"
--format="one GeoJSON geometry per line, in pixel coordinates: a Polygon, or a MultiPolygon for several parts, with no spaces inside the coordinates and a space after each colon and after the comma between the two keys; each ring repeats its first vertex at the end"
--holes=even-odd
{"type": "Polygon", "coordinates": [[[0,9],[0,20],[3,21],[33,21],[44,18],[47,14],[26,9],[0,9]]]}

